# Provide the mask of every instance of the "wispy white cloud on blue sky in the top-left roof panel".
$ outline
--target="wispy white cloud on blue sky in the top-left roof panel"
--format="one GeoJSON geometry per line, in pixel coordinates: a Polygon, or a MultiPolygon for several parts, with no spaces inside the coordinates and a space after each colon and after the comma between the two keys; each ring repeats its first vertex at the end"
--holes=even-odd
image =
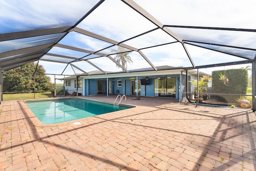
{"type": "Polygon", "coordinates": [[[16,28],[46,28],[75,24],[96,2],[83,0],[1,0],[0,18],[16,28]],[[19,24],[20,23],[20,24],[19,24]]]}

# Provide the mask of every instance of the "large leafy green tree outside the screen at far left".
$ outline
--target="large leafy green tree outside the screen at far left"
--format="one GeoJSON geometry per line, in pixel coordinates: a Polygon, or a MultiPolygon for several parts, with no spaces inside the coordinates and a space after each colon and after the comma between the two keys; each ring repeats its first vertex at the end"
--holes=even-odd
{"type": "MultiPolygon", "coordinates": [[[[3,73],[3,91],[34,91],[34,72],[36,64],[34,62],[16,67],[3,73]],[[32,74],[26,74],[32,73],[32,74]]],[[[35,83],[36,91],[50,91],[54,85],[50,82],[50,77],[45,75],[42,65],[36,69],[35,83]]]]}

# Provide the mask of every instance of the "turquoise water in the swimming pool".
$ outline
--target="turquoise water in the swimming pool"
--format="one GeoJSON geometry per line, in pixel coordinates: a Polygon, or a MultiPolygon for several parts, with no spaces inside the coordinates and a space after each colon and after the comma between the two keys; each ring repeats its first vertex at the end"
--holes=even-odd
{"type": "Polygon", "coordinates": [[[124,106],[114,108],[113,104],[85,99],[56,99],[24,103],[43,124],[62,123],[131,108],[124,106]]]}

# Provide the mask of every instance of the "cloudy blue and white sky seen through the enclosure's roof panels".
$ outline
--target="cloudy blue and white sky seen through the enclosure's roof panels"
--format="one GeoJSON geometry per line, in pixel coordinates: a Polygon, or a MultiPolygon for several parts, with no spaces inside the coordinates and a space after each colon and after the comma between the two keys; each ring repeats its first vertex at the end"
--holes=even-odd
{"type": "MultiPolygon", "coordinates": [[[[151,14],[154,19],[158,20],[161,24],[170,26],[167,28],[174,32],[175,35],[182,38],[182,40],[222,44],[224,45],[222,47],[207,45],[207,48],[242,54],[249,58],[254,58],[255,56],[254,50],[241,50],[237,48],[227,48],[225,46],[255,49],[256,32],[181,29],[171,27],[200,26],[256,29],[254,18],[255,0],[150,0],[150,2],[148,0],[134,0],[134,2],[144,8],[146,12],[151,14]]],[[[98,1],[96,0],[0,0],[0,33],[72,26],[97,3],[98,1]]],[[[77,27],[117,42],[127,40],[124,44],[142,49],[141,52],[154,66],[192,66],[182,44],[176,42],[172,36],[161,29],[154,30],[153,32],[137,38],[132,38],[144,32],[156,29],[157,26],[120,0],[105,0],[96,10],[80,22],[77,27]],[[165,45],[158,46],[161,44],[165,45]],[[147,48],[151,46],[156,47],[147,48]]],[[[43,40],[39,38],[27,38],[24,40],[0,42],[0,46],[3,47],[0,52],[56,41],[59,36],[61,35],[44,36],[43,40]]],[[[111,54],[113,49],[117,49],[116,46],[109,48],[109,46],[112,45],[111,43],[77,32],[68,33],[59,43],[94,52],[101,50],[100,52],[105,54],[111,54]],[[102,50],[104,48],[106,49],[102,50]]],[[[196,46],[185,45],[196,66],[244,60],[236,56],[197,47],[198,45],[206,46],[205,44],[195,44],[196,46]]],[[[48,53],[76,58],[82,58],[88,55],[84,52],[59,47],[52,48],[48,53]]],[[[128,64],[128,70],[150,67],[148,62],[146,62],[138,52],[132,52],[130,56],[133,63],[128,64]]],[[[98,56],[87,56],[84,59],[88,59],[105,71],[121,71],[109,58],[94,57],[98,56]]],[[[115,55],[111,57],[114,58],[115,55]]],[[[64,60],[53,56],[44,56],[42,59],[64,60]]],[[[70,62],[72,60],[65,59],[65,61],[70,62]]],[[[67,66],[66,64],[46,61],[40,61],[39,64],[44,66],[48,74],[73,75],[74,73],[81,73],[80,70],[74,67],[72,68],[70,65],[67,66]]],[[[86,72],[98,70],[86,61],[75,62],[74,64],[86,72]]],[[[247,65],[235,67],[240,68],[246,66],[247,65]]],[[[229,67],[230,66],[226,66],[224,68],[227,69],[229,67]]],[[[205,72],[211,71],[210,69],[205,69],[205,72]]]]}

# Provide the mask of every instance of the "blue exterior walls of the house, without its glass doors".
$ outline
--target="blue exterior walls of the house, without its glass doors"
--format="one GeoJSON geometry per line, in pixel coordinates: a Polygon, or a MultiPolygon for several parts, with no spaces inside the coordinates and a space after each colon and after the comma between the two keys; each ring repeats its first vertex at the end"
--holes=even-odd
{"type": "MultiPolygon", "coordinates": [[[[195,72],[188,73],[191,79],[197,79],[197,74],[195,72]]],[[[140,85],[140,94],[141,96],[158,96],[158,93],[155,93],[155,79],[158,78],[176,78],[176,94],[172,97],[176,99],[186,99],[186,73],[180,71],[160,71],[157,72],[142,72],[142,73],[126,73],[126,74],[111,74],[111,75],[96,75],[96,76],[80,76],[83,78],[82,82],[82,92],[83,95],[97,95],[97,80],[108,80],[111,81],[111,93],[112,94],[131,94],[131,79],[138,80],[145,79],[146,76],[149,77],[149,85],[140,85]],[[111,77],[110,77],[111,76],[111,77]],[[118,80],[120,83],[118,84],[118,80]],[[121,85],[121,86],[118,86],[121,85]],[[118,91],[117,91],[118,90],[118,91]]],[[[66,86],[69,93],[71,93],[74,88],[74,80],[76,77],[70,78],[71,86],[66,86]]],[[[188,85],[190,86],[190,85],[188,85]]],[[[194,91],[194,87],[191,87],[190,91],[194,91]]],[[[108,91],[107,91],[108,92],[108,91]]]]}

